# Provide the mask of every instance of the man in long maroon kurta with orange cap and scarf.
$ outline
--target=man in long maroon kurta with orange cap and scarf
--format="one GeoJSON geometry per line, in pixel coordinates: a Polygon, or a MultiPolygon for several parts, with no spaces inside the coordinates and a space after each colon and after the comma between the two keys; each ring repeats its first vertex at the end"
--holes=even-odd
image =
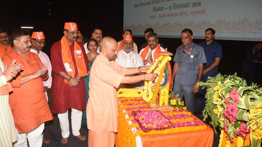
{"type": "Polygon", "coordinates": [[[58,113],[63,144],[68,143],[68,109],[71,108],[72,133],[80,140],[86,137],[79,130],[85,108],[86,89],[82,77],[87,76],[88,58],[84,46],[76,41],[77,24],[66,22],[64,36],[51,47],[52,69],[55,73],[53,87],[53,112],[58,113]]]}

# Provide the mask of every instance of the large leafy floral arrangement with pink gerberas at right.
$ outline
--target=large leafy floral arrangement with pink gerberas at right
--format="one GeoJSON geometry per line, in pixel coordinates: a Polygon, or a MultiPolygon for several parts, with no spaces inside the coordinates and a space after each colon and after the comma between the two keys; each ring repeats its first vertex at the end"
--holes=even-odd
{"type": "Polygon", "coordinates": [[[208,77],[206,83],[198,84],[207,87],[203,120],[209,116],[214,130],[215,127],[221,127],[219,147],[249,145],[250,141],[251,146],[259,147],[262,134],[262,92],[256,89],[255,84],[247,87],[246,81],[236,75],[218,74],[216,77],[208,77]]]}

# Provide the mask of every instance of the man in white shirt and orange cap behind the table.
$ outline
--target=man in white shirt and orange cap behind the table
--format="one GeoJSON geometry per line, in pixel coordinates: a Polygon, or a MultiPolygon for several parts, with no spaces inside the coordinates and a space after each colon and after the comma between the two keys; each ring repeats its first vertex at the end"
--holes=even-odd
{"type": "MultiPolygon", "coordinates": [[[[124,39],[121,41],[122,46],[119,47],[117,52],[116,63],[122,67],[135,68],[144,66],[142,57],[135,53],[133,50],[133,38],[132,35],[124,35],[124,39]]],[[[142,88],[143,81],[133,84],[120,84],[118,88],[142,88]]]]}

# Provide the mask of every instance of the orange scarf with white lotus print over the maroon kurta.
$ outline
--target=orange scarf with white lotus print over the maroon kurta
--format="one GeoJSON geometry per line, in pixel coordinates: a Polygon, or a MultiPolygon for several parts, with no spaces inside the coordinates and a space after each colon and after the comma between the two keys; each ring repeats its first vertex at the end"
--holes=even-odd
{"type": "MultiPolygon", "coordinates": [[[[66,40],[66,36],[62,37],[61,46],[62,46],[62,59],[63,59],[63,64],[66,68],[66,72],[68,75],[74,78],[75,68],[74,68],[70,47],[66,40]]],[[[76,66],[78,70],[77,76],[79,77],[87,76],[87,67],[84,62],[84,54],[82,53],[82,49],[76,41],[74,42],[74,56],[76,59],[76,66]]],[[[64,81],[66,84],[68,83],[67,79],[64,79],[64,81]]]]}

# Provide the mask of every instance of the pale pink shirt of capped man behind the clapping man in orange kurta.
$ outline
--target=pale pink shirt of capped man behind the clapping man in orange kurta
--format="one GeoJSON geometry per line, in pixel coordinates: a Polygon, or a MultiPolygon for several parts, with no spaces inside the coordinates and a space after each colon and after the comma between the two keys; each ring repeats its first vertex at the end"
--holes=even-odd
{"type": "MultiPolygon", "coordinates": [[[[37,54],[37,51],[34,50],[34,49],[31,49],[30,52],[37,54]]],[[[50,59],[47,56],[47,54],[42,52],[42,51],[39,51],[38,57],[40,58],[41,62],[44,63],[46,67],[48,67],[48,75],[49,75],[49,77],[48,77],[47,80],[43,81],[43,84],[44,84],[44,86],[47,86],[47,88],[51,88],[51,86],[52,86],[52,75],[51,75],[51,73],[52,73],[52,66],[51,66],[50,59]]],[[[47,92],[45,92],[45,95],[46,95],[46,98],[47,98],[47,101],[48,101],[47,92]]]]}

